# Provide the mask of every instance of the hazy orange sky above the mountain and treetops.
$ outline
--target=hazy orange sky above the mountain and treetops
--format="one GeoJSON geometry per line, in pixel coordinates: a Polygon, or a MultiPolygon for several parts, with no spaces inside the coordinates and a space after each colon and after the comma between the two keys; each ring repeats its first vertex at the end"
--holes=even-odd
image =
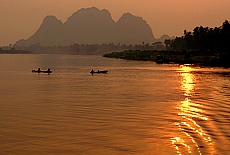
{"type": "Polygon", "coordinates": [[[126,12],[141,16],[156,38],[230,20],[230,0],[0,0],[0,46],[30,37],[47,15],[65,22],[77,10],[93,6],[107,9],[115,21],[126,12]]]}

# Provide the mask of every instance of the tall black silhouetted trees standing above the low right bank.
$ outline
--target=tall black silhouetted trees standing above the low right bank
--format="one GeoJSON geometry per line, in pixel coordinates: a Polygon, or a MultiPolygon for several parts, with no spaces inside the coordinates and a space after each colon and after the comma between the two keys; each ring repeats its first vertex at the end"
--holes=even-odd
{"type": "Polygon", "coordinates": [[[184,35],[175,39],[166,39],[170,50],[205,50],[230,53],[230,24],[224,21],[220,27],[195,27],[193,32],[184,30],[184,35]]]}

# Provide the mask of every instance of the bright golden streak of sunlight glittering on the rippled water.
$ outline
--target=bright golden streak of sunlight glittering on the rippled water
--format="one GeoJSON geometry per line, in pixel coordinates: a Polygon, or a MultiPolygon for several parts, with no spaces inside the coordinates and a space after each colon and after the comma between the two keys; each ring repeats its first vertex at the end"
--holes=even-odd
{"type": "Polygon", "coordinates": [[[211,138],[198,124],[199,121],[208,121],[208,118],[203,115],[202,105],[191,99],[197,83],[194,70],[196,69],[189,65],[181,65],[178,69],[181,76],[181,90],[185,98],[176,107],[179,110],[180,121],[175,125],[182,134],[171,138],[171,143],[179,155],[184,153],[201,155],[204,144],[212,145],[211,138]]]}

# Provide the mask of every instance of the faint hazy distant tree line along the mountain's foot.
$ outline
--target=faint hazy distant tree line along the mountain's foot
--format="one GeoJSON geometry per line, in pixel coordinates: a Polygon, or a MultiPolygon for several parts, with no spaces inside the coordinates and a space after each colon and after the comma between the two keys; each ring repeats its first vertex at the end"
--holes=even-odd
{"type": "MultiPolygon", "coordinates": [[[[125,50],[164,50],[162,42],[152,44],[142,42],[142,44],[72,44],[70,46],[41,46],[39,43],[31,46],[13,46],[16,50],[28,50],[34,53],[66,53],[66,54],[93,54],[102,55],[109,52],[119,52],[125,50]]],[[[1,48],[1,47],[0,47],[1,48]]],[[[9,47],[4,47],[5,49],[9,47]]]]}

